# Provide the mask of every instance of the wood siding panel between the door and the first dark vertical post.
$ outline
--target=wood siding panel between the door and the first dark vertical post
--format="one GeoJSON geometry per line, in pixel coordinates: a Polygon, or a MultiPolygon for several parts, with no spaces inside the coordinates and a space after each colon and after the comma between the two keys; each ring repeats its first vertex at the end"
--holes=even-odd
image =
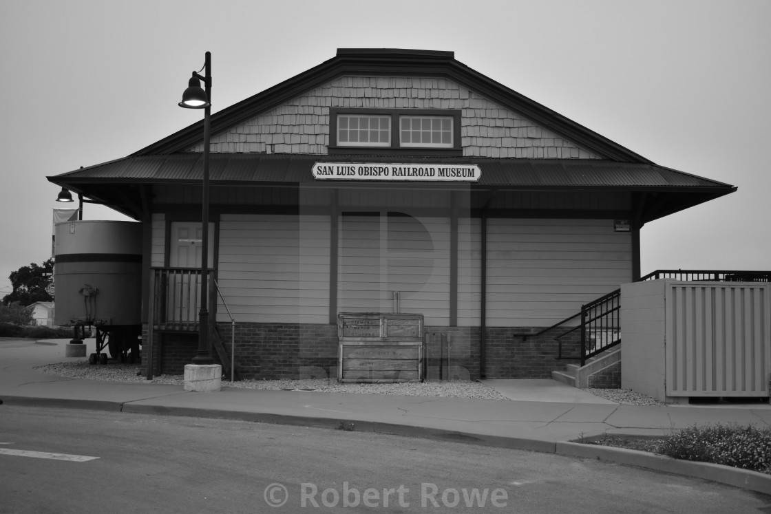
{"type": "Polygon", "coordinates": [[[328,217],[223,214],[218,283],[236,321],[328,323],[329,235],[328,217]]]}

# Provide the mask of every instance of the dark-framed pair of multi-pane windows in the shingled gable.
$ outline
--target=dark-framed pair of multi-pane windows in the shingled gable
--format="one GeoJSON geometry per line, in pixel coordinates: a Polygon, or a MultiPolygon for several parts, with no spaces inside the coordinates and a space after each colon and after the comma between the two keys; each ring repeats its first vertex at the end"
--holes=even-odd
{"type": "Polygon", "coordinates": [[[460,155],[460,110],[329,109],[329,153],[460,155]]]}

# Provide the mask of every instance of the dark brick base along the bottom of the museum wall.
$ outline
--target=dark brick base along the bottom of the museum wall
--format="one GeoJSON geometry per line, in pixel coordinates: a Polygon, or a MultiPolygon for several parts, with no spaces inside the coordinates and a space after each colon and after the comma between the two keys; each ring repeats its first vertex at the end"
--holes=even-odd
{"type": "MultiPolygon", "coordinates": [[[[231,325],[218,330],[227,351],[231,325]]],[[[241,378],[337,378],[338,333],[332,324],[241,323],[235,327],[235,362],[241,378]]],[[[480,327],[425,327],[426,378],[474,380],[479,378],[551,378],[579,361],[578,334],[560,340],[541,328],[487,328],[484,355],[480,327]],[[560,348],[561,347],[561,348],[560,348]],[[560,357],[561,354],[561,357],[560,357]],[[484,361],[484,373],[481,363],[484,361]]],[[[146,341],[146,327],[143,334],[146,341]]],[[[147,344],[142,358],[147,363],[147,344]]],[[[195,333],[155,334],[153,375],[181,375],[198,348],[195,333]]],[[[221,363],[224,371],[230,363],[221,363]]]]}

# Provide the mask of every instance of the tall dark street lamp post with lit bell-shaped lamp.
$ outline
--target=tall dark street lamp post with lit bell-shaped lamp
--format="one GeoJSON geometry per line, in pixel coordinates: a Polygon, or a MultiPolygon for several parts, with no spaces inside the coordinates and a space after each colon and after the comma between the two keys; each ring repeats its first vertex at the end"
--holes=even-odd
{"type": "Polygon", "coordinates": [[[211,365],[214,358],[211,356],[211,344],[209,338],[209,311],[207,308],[209,292],[209,130],[211,117],[211,52],[206,52],[204,62],[204,76],[193,72],[188,87],[182,94],[180,107],[187,109],[204,109],[204,180],[203,196],[201,199],[201,256],[200,256],[200,311],[198,311],[198,351],[193,358],[193,364],[211,365]],[[200,81],[204,81],[205,90],[200,88],[200,81]]]}

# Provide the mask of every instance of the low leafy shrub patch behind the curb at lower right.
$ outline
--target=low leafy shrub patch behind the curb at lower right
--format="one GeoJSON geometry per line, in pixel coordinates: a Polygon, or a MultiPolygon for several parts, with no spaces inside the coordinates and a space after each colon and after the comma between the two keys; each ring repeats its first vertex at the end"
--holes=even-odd
{"type": "Polygon", "coordinates": [[[693,426],[669,436],[658,452],[674,459],[771,473],[771,427],[693,426]]]}

